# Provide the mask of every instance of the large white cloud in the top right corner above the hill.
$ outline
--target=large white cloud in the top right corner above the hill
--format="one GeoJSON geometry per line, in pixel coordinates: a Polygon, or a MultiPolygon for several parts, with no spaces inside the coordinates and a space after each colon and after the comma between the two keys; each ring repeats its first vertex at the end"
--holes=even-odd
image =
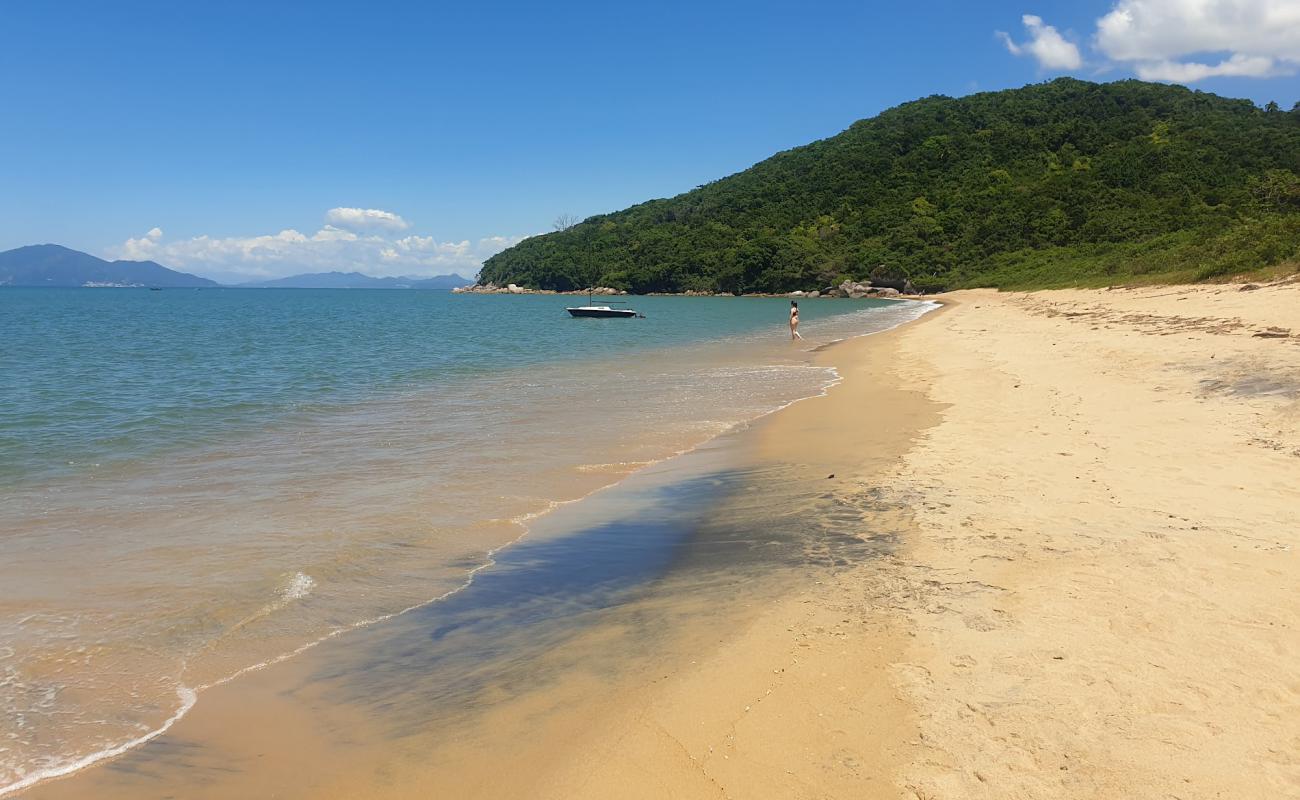
{"type": "Polygon", "coordinates": [[[1300,3],[1119,0],[1097,20],[1096,44],[1149,81],[1295,74],[1300,70],[1300,3]]]}

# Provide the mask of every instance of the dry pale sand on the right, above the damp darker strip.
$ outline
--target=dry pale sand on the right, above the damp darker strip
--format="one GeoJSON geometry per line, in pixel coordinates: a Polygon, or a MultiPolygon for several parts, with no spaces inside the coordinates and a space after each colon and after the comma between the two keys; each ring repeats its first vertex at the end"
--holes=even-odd
{"type": "Polygon", "coordinates": [[[950,403],[898,484],[904,786],[1300,797],[1300,285],[957,299],[900,371],[950,403]]]}

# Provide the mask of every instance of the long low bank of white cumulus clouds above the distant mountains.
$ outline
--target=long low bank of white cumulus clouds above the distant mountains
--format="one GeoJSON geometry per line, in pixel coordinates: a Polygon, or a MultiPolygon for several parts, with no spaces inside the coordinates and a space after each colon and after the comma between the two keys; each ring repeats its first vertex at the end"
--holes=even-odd
{"type": "MultiPolygon", "coordinates": [[[[326,219],[334,219],[332,215],[326,219]]],[[[355,211],[355,209],[352,209],[355,211]]],[[[367,212],[370,213],[370,212],[367,212]]],[[[387,213],[387,212],[381,212],[387,213]]],[[[395,220],[407,222],[396,215],[395,220]]],[[[292,228],[248,237],[198,235],[168,241],[153,228],[110,248],[110,258],[152,260],[166,267],[209,274],[225,281],[264,280],[302,272],[364,272],[373,276],[472,277],[484,260],[525,239],[495,235],[477,241],[441,242],[432,235],[394,238],[389,230],[359,232],[335,224],[306,234],[292,228]]]]}

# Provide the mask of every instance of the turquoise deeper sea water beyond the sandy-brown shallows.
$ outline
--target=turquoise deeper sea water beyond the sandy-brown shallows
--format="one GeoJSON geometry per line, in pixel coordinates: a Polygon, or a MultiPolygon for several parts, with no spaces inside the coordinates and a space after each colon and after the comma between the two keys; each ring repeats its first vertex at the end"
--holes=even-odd
{"type": "MultiPolygon", "coordinates": [[[[0,291],[0,481],[30,481],[494,369],[780,337],[788,300],[632,298],[572,320],[554,295],[387,290],[0,291]]],[[[585,302],[585,300],[584,300],[585,302]]],[[[861,303],[807,300],[815,321],[861,303]]]]}

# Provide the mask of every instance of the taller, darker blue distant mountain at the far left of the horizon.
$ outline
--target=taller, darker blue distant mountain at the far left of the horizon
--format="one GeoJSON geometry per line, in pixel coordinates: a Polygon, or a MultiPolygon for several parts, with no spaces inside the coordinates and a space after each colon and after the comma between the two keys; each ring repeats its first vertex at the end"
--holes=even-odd
{"type": "Polygon", "coordinates": [[[216,286],[153,261],[105,261],[58,245],[0,252],[0,286],[216,286]]]}

